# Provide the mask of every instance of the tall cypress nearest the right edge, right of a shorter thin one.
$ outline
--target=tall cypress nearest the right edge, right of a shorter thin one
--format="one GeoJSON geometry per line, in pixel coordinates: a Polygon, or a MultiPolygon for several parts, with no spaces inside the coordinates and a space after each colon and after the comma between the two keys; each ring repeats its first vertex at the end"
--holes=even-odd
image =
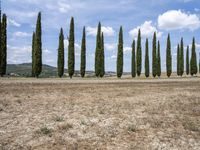
{"type": "Polygon", "coordinates": [[[190,60],[190,74],[193,76],[197,74],[197,58],[196,58],[196,47],[195,47],[195,38],[192,40],[192,54],[190,60]]]}

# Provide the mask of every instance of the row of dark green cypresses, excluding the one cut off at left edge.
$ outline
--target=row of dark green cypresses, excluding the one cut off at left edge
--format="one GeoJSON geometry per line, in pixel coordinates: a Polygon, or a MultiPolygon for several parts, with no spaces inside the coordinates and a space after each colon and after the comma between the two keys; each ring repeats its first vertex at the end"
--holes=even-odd
{"type": "MultiPolygon", "coordinates": [[[[33,33],[32,40],[32,75],[38,77],[42,71],[42,30],[41,30],[41,12],[38,14],[36,31],[33,33]]],[[[68,37],[68,74],[70,78],[74,75],[75,68],[75,35],[74,35],[74,18],[71,18],[70,30],[68,37]]],[[[60,29],[59,44],[58,44],[58,76],[62,77],[64,74],[64,34],[63,29],[60,29]]],[[[150,76],[149,69],[149,41],[145,42],[145,76],[150,76]]],[[[82,43],[81,43],[81,63],[80,74],[85,76],[86,70],[86,32],[83,28],[82,43]]],[[[123,75],[123,28],[120,27],[118,39],[117,52],[117,77],[121,78],[123,75]]],[[[141,31],[138,31],[137,41],[132,43],[132,77],[140,76],[142,71],[142,46],[141,46],[141,31]],[[137,44],[137,45],[136,45],[137,44]]],[[[172,54],[170,35],[167,37],[166,47],[166,73],[170,77],[172,73],[172,54]]],[[[177,75],[182,76],[184,73],[184,45],[183,38],[180,45],[177,46],[177,75]]],[[[191,59],[189,60],[189,46],[186,51],[186,74],[197,74],[197,60],[195,52],[195,39],[193,38],[191,59]]],[[[103,77],[105,75],[105,60],[104,60],[104,35],[101,30],[101,23],[99,22],[96,36],[96,50],[95,50],[95,75],[96,77],[103,77]]],[[[152,76],[161,76],[161,57],[160,57],[160,42],[157,40],[156,32],[154,32],[152,40],[152,76]]]]}

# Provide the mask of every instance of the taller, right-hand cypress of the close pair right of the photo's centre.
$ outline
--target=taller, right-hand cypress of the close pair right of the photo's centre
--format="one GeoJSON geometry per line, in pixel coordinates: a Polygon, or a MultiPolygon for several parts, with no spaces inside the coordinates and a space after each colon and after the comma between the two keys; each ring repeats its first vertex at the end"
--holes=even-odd
{"type": "Polygon", "coordinates": [[[141,75],[142,70],[142,46],[141,46],[141,32],[140,29],[138,31],[138,38],[137,38],[137,75],[141,75]]]}

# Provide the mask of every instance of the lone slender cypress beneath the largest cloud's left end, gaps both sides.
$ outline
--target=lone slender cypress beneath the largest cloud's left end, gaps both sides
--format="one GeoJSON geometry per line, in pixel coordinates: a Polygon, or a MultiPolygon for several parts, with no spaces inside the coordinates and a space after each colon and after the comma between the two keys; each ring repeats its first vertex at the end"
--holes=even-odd
{"type": "Polygon", "coordinates": [[[167,37],[166,69],[167,69],[167,77],[169,78],[172,73],[172,55],[171,55],[170,34],[168,34],[168,37],[167,37]]]}

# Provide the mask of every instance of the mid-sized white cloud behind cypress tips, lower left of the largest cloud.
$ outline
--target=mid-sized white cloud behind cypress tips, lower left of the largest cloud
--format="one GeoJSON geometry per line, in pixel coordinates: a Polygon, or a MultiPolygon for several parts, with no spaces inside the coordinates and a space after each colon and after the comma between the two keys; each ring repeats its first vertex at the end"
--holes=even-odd
{"type": "Polygon", "coordinates": [[[139,29],[141,30],[142,37],[152,37],[154,32],[157,32],[158,38],[162,36],[162,32],[159,32],[156,27],[152,25],[152,21],[145,21],[142,25],[129,31],[129,35],[136,38],[139,29]]]}

